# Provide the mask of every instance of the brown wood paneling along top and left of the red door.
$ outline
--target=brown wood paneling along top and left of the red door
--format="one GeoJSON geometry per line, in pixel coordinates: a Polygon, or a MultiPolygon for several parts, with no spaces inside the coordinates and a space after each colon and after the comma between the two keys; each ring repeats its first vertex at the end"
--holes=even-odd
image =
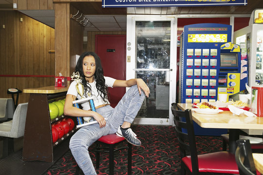
{"type": "Polygon", "coordinates": [[[87,44],[83,45],[83,51],[95,52],[95,36],[96,35],[126,35],[126,31],[120,32],[88,32],[87,44]]]}

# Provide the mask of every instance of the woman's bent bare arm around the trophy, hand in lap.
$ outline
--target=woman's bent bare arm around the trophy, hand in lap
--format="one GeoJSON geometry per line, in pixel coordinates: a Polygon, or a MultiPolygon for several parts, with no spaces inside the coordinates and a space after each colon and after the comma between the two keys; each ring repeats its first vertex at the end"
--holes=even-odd
{"type": "Polygon", "coordinates": [[[91,111],[91,110],[83,110],[77,107],[74,107],[72,102],[75,101],[75,96],[72,94],[68,94],[66,96],[65,105],[64,105],[64,114],[72,117],[93,117],[100,125],[100,127],[104,127],[106,125],[106,121],[104,117],[102,117],[99,113],[91,111]]]}

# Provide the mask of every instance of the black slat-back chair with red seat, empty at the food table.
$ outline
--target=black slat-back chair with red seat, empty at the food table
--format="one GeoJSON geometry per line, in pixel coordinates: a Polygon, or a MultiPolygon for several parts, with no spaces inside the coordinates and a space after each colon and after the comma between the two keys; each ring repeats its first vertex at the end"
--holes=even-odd
{"type": "Polygon", "coordinates": [[[235,155],[230,152],[221,151],[198,155],[191,110],[177,110],[175,103],[172,104],[171,110],[174,115],[176,135],[180,143],[181,175],[186,175],[186,173],[188,175],[204,173],[239,174],[235,155]],[[182,118],[185,118],[186,122],[182,122],[182,118]],[[182,128],[187,133],[182,132],[182,128]]]}

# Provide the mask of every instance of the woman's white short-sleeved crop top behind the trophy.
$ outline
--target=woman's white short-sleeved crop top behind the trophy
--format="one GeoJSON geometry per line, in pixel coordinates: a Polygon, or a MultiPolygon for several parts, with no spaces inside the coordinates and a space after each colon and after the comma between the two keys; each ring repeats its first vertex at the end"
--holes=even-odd
{"type": "MultiPolygon", "coordinates": [[[[105,78],[106,86],[113,88],[113,83],[115,82],[116,79],[111,78],[111,77],[106,77],[106,76],[104,76],[104,78],[105,78]]],[[[70,84],[70,87],[68,89],[67,94],[74,95],[74,96],[77,97],[77,99],[81,99],[81,96],[77,93],[77,90],[76,90],[76,87],[75,87],[76,84],[77,84],[76,81],[73,81],[70,84]]],[[[91,90],[92,90],[92,97],[94,98],[94,105],[95,106],[99,106],[99,105],[107,104],[107,102],[104,102],[102,100],[101,96],[98,94],[98,91],[97,91],[97,88],[96,88],[96,81],[94,81],[93,83],[89,83],[89,84],[90,84],[91,90]]],[[[85,94],[84,94],[84,98],[85,98],[85,94]]],[[[108,99],[107,99],[107,101],[108,101],[108,99]]],[[[108,101],[108,103],[109,103],[109,101],[108,101]]],[[[81,106],[82,106],[82,109],[84,109],[84,110],[90,110],[90,105],[89,105],[88,102],[82,103],[81,106]]]]}

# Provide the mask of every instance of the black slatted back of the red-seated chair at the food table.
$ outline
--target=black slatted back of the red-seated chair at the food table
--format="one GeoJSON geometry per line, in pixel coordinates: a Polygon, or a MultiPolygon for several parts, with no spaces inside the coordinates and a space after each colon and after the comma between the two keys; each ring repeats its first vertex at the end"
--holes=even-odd
{"type": "Polygon", "coordinates": [[[171,111],[174,116],[173,121],[175,124],[177,139],[179,140],[181,159],[188,155],[191,156],[192,173],[193,175],[196,175],[199,171],[191,109],[181,111],[178,110],[177,104],[173,103],[171,111]],[[184,132],[182,132],[182,129],[184,132]]]}

